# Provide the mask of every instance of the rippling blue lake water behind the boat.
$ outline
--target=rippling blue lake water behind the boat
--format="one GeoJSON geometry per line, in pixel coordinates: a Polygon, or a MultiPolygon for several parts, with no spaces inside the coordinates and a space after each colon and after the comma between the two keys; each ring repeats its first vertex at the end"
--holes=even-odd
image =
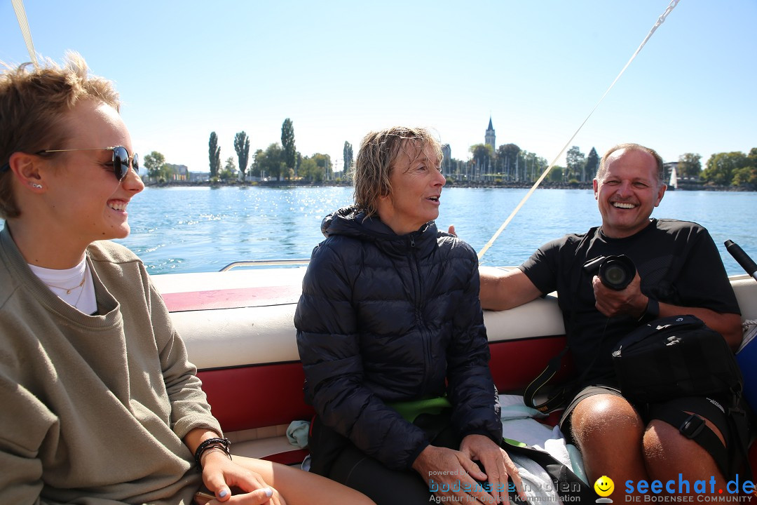
{"type": "MultiPolygon", "coordinates": [[[[437,224],[455,225],[476,251],[489,241],[526,189],[445,188],[437,224]]],[[[211,272],[237,260],[298,259],[323,239],[321,220],[350,204],[352,189],[148,188],[129,204],[132,234],[118,242],[150,273],[211,272]]],[[[725,251],[731,239],[757,260],[757,193],[668,192],[653,217],[709,229],[729,274],[743,273],[725,251]]],[[[537,189],[484,254],[481,264],[518,265],[544,242],[600,223],[593,192],[537,189]]]]}

